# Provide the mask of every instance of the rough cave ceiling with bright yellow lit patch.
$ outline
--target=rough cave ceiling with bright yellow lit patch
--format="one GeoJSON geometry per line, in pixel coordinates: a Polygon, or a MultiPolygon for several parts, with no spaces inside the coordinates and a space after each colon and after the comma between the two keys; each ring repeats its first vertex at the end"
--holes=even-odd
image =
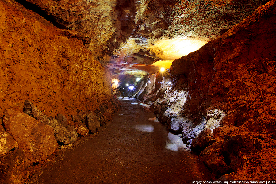
{"type": "Polygon", "coordinates": [[[120,76],[169,68],[268,1],[26,1],[120,76]]]}

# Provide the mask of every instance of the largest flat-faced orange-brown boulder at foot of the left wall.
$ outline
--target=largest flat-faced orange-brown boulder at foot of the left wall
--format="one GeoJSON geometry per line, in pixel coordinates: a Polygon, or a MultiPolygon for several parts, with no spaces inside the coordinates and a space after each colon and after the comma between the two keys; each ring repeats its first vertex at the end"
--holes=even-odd
{"type": "Polygon", "coordinates": [[[49,125],[11,109],[4,110],[3,115],[6,131],[25,152],[27,166],[46,160],[58,148],[54,130],[49,125]]]}

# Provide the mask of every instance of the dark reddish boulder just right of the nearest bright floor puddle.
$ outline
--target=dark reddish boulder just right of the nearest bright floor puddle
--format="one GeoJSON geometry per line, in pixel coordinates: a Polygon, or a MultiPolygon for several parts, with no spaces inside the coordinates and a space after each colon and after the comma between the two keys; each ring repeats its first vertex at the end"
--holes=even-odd
{"type": "Polygon", "coordinates": [[[202,132],[198,134],[192,141],[191,150],[200,153],[207,146],[209,146],[210,140],[213,139],[213,133],[210,129],[204,129],[202,132]]]}

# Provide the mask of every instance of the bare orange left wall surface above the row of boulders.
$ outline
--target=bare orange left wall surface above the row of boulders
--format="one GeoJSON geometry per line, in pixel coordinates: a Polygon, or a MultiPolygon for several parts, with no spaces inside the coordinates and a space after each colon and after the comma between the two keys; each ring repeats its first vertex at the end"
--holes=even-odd
{"type": "Polygon", "coordinates": [[[46,116],[93,112],[113,99],[111,74],[83,41],[15,1],[1,1],[1,118],[25,99],[46,116]]]}

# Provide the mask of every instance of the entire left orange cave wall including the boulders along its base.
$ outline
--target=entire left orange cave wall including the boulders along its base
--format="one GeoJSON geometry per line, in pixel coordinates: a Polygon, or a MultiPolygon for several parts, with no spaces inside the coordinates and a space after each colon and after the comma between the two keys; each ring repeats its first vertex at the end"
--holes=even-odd
{"type": "Polygon", "coordinates": [[[85,43],[1,1],[1,183],[24,183],[58,144],[95,133],[120,109],[111,73],[85,43]]]}

